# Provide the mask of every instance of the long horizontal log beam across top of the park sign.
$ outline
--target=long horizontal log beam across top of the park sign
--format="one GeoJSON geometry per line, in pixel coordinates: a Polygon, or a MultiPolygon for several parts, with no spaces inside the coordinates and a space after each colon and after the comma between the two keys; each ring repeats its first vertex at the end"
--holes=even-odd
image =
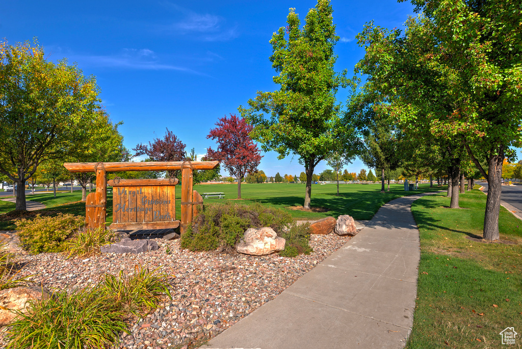
{"type": "MultiPolygon", "coordinates": [[[[64,166],[69,172],[94,172],[98,162],[65,162],[64,166]]],[[[183,161],[148,161],[148,162],[103,162],[107,172],[121,171],[171,171],[181,170],[183,161]]],[[[213,170],[219,165],[218,161],[192,161],[195,170],[213,170]]],[[[185,162],[184,168],[191,168],[185,162]]]]}

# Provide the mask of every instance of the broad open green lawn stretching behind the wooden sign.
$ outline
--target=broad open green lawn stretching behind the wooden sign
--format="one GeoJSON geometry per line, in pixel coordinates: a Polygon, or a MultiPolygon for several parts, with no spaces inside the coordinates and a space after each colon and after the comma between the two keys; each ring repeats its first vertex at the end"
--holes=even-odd
{"type": "MultiPolygon", "coordinates": [[[[199,193],[223,192],[226,199],[209,197],[205,202],[225,202],[238,197],[237,184],[198,184],[194,189],[199,193]]],[[[304,203],[304,184],[264,183],[241,184],[242,203],[260,202],[265,205],[281,208],[298,219],[320,219],[327,216],[338,217],[348,214],[357,220],[371,219],[379,207],[390,200],[404,195],[436,191],[429,184],[421,184],[417,191],[404,191],[403,184],[390,184],[390,192],[381,193],[381,184],[340,184],[339,196],[336,184],[313,184],[312,207],[322,207],[327,212],[304,212],[290,210],[291,206],[302,206],[304,203]]],[[[58,192],[56,198],[52,193],[28,194],[27,200],[38,201],[46,205],[46,210],[85,215],[85,203],[81,202],[81,192],[58,192]]],[[[0,214],[14,210],[15,205],[2,202],[0,214]]],[[[176,188],[176,216],[180,218],[181,186],[176,188]]],[[[107,222],[112,222],[112,194],[107,195],[107,222]]],[[[0,229],[15,229],[11,221],[0,221],[0,229]]]]}

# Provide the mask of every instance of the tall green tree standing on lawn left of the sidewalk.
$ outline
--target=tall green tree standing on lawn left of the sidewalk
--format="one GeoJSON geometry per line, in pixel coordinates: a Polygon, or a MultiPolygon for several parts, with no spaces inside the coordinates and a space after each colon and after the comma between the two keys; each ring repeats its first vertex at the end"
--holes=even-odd
{"type": "Polygon", "coordinates": [[[355,152],[351,144],[357,138],[352,125],[341,120],[336,103],[338,88],[349,81],[346,72],[334,72],[339,37],[332,13],[329,0],[318,0],[300,29],[299,17],[290,9],[288,27],[281,27],[270,40],[270,61],[279,73],[274,83],[281,88],[257,92],[248,101],[250,108],[239,108],[255,126],[252,136],[265,151],[275,150],[280,159],[299,156],[306,173],[305,208],[310,208],[315,166],[335,150],[355,152]],[[270,113],[270,118],[264,113],[270,113]]]}

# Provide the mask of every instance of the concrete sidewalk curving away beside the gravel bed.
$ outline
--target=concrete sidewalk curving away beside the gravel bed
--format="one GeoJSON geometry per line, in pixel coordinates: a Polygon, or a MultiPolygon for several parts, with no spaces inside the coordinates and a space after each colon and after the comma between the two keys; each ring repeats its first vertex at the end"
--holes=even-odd
{"type": "Polygon", "coordinates": [[[382,206],[345,246],[203,348],[401,348],[413,323],[420,259],[410,211],[382,206]]]}

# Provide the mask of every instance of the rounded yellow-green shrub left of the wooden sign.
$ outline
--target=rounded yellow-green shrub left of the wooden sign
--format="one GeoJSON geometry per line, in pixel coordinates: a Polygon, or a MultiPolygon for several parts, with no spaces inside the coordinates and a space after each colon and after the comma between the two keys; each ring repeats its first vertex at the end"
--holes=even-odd
{"type": "Polygon", "coordinates": [[[64,251],[64,241],[84,225],[84,217],[62,213],[55,217],[36,215],[32,220],[20,219],[16,222],[23,249],[34,254],[64,251]]]}

